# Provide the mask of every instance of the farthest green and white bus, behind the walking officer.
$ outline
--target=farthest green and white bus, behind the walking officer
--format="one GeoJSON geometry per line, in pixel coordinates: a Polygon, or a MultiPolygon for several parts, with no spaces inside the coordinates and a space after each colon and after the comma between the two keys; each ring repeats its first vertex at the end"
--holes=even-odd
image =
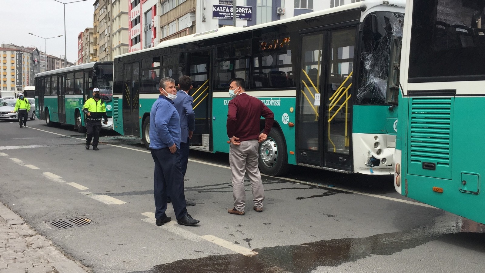
{"type": "Polygon", "coordinates": [[[86,132],[82,106],[93,96],[93,89],[100,90],[106,103],[108,124],[113,129],[113,62],[93,62],[50,70],[35,75],[35,110],[39,119],[48,127],[72,124],[86,132]]]}

